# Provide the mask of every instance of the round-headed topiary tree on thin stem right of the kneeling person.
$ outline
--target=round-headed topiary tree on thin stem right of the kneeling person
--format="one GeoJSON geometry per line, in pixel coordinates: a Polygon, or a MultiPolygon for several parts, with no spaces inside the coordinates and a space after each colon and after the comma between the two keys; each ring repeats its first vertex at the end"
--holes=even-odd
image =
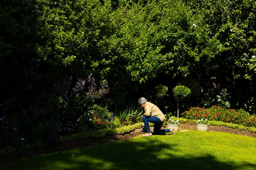
{"type": "Polygon", "coordinates": [[[188,87],[178,85],[173,89],[173,96],[177,100],[177,118],[179,118],[179,101],[187,99],[191,95],[191,91],[188,87]]]}

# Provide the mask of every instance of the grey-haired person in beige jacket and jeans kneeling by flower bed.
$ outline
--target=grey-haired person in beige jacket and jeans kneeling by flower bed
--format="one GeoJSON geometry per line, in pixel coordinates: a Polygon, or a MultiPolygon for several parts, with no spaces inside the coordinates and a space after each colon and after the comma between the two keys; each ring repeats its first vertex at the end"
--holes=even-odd
{"type": "Polygon", "coordinates": [[[175,134],[174,129],[161,130],[161,127],[165,121],[165,116],[162,111],[157,106],[155,106],[155,104],[148,102],[147,99],[145,99],[144,97],[139,98],[138,102],[145,110],[142,120],[147,132],[143,134],[143,136],[152,136],[148,122],[155,124],[154,135],[162,135],[166,132],[172,132],[173,135],[175,134]]]}

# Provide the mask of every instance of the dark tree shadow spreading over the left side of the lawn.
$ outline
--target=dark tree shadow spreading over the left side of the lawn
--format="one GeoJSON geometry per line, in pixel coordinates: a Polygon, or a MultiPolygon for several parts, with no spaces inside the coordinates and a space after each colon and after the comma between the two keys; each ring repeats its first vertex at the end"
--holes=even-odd
{"type": "Polygon", "coordinates": [[[110,142],[31,157],[13,162],[12,166],[8,164],[5,170],[236,170],[240,166],[247,169],[256,167],[256,164],[235,165],[232,162],[216,161],[211,154],[181,153],[182,156],[175,157],[175,152],[179,150],[174,149],[174,146],[146,137],[142,141],[110,142]]]}

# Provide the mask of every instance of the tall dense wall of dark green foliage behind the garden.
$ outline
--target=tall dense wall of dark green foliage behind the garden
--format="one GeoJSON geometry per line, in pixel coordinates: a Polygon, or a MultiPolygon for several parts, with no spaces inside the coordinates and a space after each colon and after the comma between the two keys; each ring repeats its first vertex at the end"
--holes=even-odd
{"type": "Polygon", "coordinates": [[[117,127],[142,96],[175,112],[177,85],[193,95],[182,111],[253,115],[255,13],[253,0],[2,0],[0,147],[117,127]]]}

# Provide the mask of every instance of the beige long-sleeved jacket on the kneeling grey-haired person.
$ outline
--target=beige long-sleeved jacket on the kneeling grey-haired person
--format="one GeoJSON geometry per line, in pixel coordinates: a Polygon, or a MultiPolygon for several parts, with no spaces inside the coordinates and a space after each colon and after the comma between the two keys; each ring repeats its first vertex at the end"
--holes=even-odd
{"type": "Polygon", "coordinates": [[[146,102],[144,110],[145,110],[144,116],[146,117],[155,116],[155,117],[158,117],[162,122],[165,121],[164,114],[157,106],[155,106],[155,104],[146,102]]]}

